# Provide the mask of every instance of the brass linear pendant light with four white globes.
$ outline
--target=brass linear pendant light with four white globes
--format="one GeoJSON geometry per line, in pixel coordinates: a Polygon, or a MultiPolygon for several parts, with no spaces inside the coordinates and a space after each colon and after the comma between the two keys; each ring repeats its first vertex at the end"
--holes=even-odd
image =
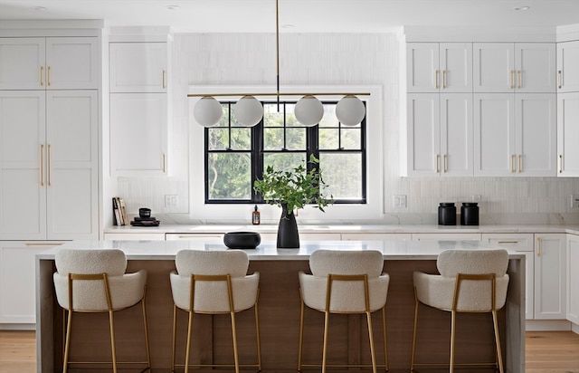
{"type": "MultiPolygon", "coordinates": [[[[275,1],[275,34],[276,34],[276,91],[266,93],[245,93],[233,105],[233,113],[237,122],[244,127],[253,127],[263,118],[263,106],[255,96],[276,96],[278,110],[280,110],[280,96],[302,96],[294,107],[294,115],[299,123],[306,127],[317,125],[324,116],[324,106],[316,96],[343,96],[337,102],[337,120],[344,126],[356,126],[365,117],[365,105],[357,96],[369,96],[368,92],[358,93],[282,93],[280,92],[280,0],[275,1]]],[[[201,97],[195,104],[194,117],[197,123],[204,127],[213,127],[221,120],[223,109],[214,97],[240,96],[238,93],[195,94],[187,97],[201,97]],[[217,108],[219,106],[219,109],[217,108]]]]}

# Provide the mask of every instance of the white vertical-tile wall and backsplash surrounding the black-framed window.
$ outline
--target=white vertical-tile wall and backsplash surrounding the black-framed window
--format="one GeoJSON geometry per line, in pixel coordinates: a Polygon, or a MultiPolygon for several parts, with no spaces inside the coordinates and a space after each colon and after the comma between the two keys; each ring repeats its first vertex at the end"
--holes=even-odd
{"type": "MultiPolygon", "coordinates": [[[[482,196],[481,224],[579,223],[569,198],[579,195],[578,178],[469,177],[407,178],[401,174],[401,42],[397,34],[289,33],[280,35],[280,84],[286,85],[381,85],[384,125],[384,216],[369,219],[385,224],[435,224],[439,202],[470,201],[482,196]],[[407,208],[394,209],[393,195],[406,195],[407,208]]],[[[119,196],[129,213],[150,207],[164,224],[218,223],[190,219],[189,154],[203,148],[188,145],[190,85],[275,86],[275,34],[214,33],[176,34],[173,43],[173,120],[170,125],[170,177],[121,177],[119,196]],[[177,195],[178,206],[165,207],[165,195],[177,195]]],[[[369,162],[377,167],[379,162],[369,162]]],[[[195,182],[203,182],[203,169],[192,170],[195,182]],[[196,176],[198,174],[198,177],[196,176]]],[[[371,172],[371,171],[370,171],[371,172]]],[[[251,208],[248,207],[247,222],[251,208]]],[[[198,213],[198,212],[197,212],[198,213]]],[[[198,215],[198,214],[195,214],[198,215]]],[[[327,216],[331,220],[331,216],[327,216]]],[[[358,216],[364,222],[364,216],[358,216]]],[[[333,221],[332,221],[333,222],[333,221]]],[[[266,223],[268,223],[266,221],[266,223]]],[[[273,223],[273,221],[271,221],[273,223]]],[[[303,222],[307,223],[307,222],[303,222]]]]}

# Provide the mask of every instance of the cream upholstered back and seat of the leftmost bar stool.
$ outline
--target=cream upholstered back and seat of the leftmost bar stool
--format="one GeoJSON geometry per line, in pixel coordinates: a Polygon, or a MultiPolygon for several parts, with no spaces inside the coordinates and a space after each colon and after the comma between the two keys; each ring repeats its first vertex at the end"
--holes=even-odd
{"type": "MultiPolygon", "coordinates": [[[[55,263],[54,290],[58,303],[65,310],[69,310],[69,273],[107,273],[113,310],[133,306],[143,298],[147,271],[125,273],[127,258],[121,250],[62,248],[56,252],[55,263]]],[[[74,280],[72,283],[73,311],[109,310],[103,281],[74,280]]]]}

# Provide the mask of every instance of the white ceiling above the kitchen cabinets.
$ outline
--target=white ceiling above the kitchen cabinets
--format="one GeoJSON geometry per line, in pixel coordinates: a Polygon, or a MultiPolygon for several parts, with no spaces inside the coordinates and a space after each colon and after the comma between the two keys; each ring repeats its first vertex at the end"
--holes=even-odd
{"type": "MultiPolygon", "coordinates": [[[[274,0],[0,0],[1,19],[103,19],[176,33],[275,32],[274,0]]],[[[579,24],[579,0],[280,0],[280,31],[383,33],[400,26],[579,24]],[[528,10],[515,10],[529,6],[528,10]]]]}

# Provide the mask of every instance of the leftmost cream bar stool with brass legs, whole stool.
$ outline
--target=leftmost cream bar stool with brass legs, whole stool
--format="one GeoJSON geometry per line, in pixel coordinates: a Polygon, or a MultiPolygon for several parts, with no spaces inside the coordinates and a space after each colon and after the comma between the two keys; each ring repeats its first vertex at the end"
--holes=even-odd
{"type": "MultiPolygon", "coordinates": [[[[148,347],[147,309],[145,306],[147,272],[125,273],[127,258],[117,249],[67,249],[56,252],[57,272],[53,275],[54,289],[58,303],[66,319],[64,342],[64,362],[62,372],[68,371],[70,364],[89,362],[69,361],[71,351],[72,315],[74,312],[109,312],[110,352],[113,372],[119,364],[145,364],[141,371],[150,371],[151,359],[148,347]],[[145,329],[145,349],[147,361],[117,361],[115,346],[115,325],[113,312],[142,305],[145,329]]],[[[94,362],[91,362],[94,364],[94,362]]],[[[98,364],[101,364],[99,362],[98,364]]]]}

